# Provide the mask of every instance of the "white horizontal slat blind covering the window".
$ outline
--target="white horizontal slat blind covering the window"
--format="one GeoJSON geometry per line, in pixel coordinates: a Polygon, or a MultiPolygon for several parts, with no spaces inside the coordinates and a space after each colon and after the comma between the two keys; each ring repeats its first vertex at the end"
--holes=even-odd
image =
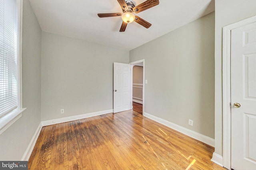
{"type": "Polygon", "coordinates": [[[18,107],[18,0],[0,0],[0,117],[18,107]]]}

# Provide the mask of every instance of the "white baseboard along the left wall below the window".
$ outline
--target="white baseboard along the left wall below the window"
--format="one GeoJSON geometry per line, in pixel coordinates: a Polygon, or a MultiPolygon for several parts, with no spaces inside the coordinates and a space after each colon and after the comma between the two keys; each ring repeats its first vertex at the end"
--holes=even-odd
{"type": "Polygon", "coordinates": [[[28,161],[28,159],[29,159],[30,155],[32,154],[32,151],[36,145],[36,141],[38,139],[41,129],[42,129],[42,125],[40,123],[38,128],[36,129],[36,132],[34,133],[34,136],[32,137],[30,143],[28,144],[28,147],[27,147],[25,153],[23,154],[23,156],[21,158],[22,161],[28,161]]]}

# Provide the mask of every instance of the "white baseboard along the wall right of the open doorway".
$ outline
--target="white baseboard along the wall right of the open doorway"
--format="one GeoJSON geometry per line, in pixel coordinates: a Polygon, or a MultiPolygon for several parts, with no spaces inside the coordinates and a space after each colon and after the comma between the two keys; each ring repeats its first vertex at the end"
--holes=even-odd
{"type": "Polygon", "coordinates": [[[196,140],[198,140],[198,141],[201,141],[201,142],[203,142],[203,143],[206,143],[206,144],[208,144],[208,145],[210,145],[210,146],[212,146],[212,147],[214,147],[214,145],[215,145],[215,140],[212,139],[212,138],[210,138],[210,137],[207,137],[207,136],[205,136],[205,135],[202,135],[202,134],[197,133],[197,132],[195,132],[195,131],[192,131],[192,130],[190,130],[190,129],[186,129],[186,128],[180,126],[180,125],[176,125],[176,124],[174,124],[174,123],[172,123],[172,122],[170,122],[170,121],[167,121],[167,120],[165,120],[165,119],[162,119],[162,118],[160,118],[160,117],[156,117],[156,116],[154,116],[154,115],[150,115],[150,114],[148,114],[148,113],[146,113],[146,112],[144,112],[143,115],[144,115],[145,117],[148,117],[148,118],[154,120],[154,121],[157,121],[158,123],[161,123],[161,124],[163,124],[163,125],[166,125],[167,127],[170,127],[170,128],[172,128],[172,129],[174,129],[174,130],[176,130],[176,131],[179,131],[179,132],[181,132],[181,133],[183,133],[183,134],[185,134],[185,135],[188,135],[189,137],[192,137],[192,138],[194,138],[194,139],[196,139],[196,140]]]}

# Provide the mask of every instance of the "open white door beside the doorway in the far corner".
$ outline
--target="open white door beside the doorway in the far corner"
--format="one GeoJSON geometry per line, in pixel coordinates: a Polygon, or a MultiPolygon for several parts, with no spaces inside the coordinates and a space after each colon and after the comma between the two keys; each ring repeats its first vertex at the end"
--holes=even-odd
{"type": "Polygon", "coordinates": [[[131,109],[131,65],[114,63],[114,113],[131,109]]]}

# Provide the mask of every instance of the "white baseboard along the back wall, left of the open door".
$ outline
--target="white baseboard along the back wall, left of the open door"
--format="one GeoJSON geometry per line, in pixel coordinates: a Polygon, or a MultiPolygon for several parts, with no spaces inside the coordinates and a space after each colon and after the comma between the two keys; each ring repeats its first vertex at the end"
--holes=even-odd
{"type": "Polygon", "coordinates": [[[42,121],[42,126],[55,125],[58,123],[64,123],[64,122],[74,121],[74,120],[79,120],[79,119],[85,119],[88,117],[94,117],[94,116],[104,115],[104,114],[108,114],[108,113],[113,113],[113,109],[104,110],[104,111],[96,111],[93,113],[86,113],[86,114],[70,116],[70,117],[62,117],[60,119],[52,119],[52,120],[42,121]]]}

